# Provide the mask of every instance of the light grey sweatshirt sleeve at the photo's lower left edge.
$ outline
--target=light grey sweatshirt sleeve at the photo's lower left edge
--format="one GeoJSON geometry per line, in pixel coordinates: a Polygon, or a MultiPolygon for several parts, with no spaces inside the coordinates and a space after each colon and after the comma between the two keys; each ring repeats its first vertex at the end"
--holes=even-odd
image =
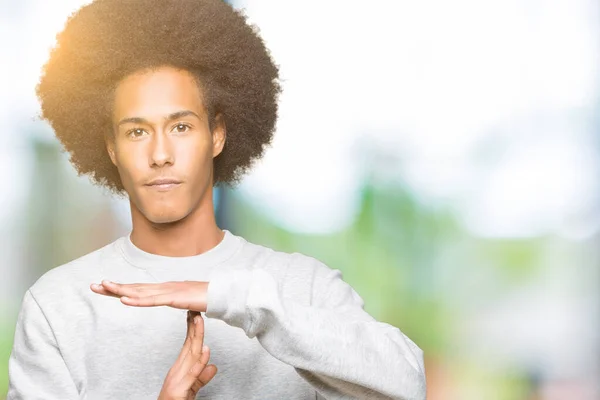
{"type": "Polygon", "coordinates": [[[7,400],[79,399],[54,333],[28,290],[17,318],[8,361],[7,400]]]}

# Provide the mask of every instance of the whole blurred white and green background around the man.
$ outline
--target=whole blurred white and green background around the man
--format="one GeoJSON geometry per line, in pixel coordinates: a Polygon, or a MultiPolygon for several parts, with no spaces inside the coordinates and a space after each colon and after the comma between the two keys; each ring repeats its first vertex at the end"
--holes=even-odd
{"type": "MultiPolygon", "coordinates": [[[[26,289],[131,228],[36,118],[88,2],[0,0],[0,398],[26,289]]],[[[599,4],[233,4],[284,93],[220,226],[342,270],[425,351],[431,400],[600,399],[599,4]]]]}

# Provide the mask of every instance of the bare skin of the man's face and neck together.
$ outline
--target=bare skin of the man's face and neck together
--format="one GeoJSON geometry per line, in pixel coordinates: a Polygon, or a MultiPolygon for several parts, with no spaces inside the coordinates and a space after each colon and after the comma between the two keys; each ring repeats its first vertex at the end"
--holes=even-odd
{"type": "Polygon", "coordinates": [[[107,150],[129,195],[131,241],[171,257],[216,246],[224,232],[213,210],[213,158],[223,150],[226,129],[217,115],[210,131],[193,76],[163,67],[126,77],[116,88],[112,120],[107,150]],[[182,112],[188,115],[168,119],[182,112]],[[182,183],[167,191],[146,185],[164,177],[182,183]]]}

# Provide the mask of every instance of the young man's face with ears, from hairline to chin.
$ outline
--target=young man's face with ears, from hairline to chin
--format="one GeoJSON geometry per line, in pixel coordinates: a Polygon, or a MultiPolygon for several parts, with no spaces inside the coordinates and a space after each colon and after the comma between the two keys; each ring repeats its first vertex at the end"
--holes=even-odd
{"type": "Polygon", "coordinates": [[[213,158],[223,149],[225,126],[217,115],[211,132],[190,73],[163,67],[126,77],[116,88],[112,121],[108,153],[132,208],[169,223],[212,204],[213,158]]]}

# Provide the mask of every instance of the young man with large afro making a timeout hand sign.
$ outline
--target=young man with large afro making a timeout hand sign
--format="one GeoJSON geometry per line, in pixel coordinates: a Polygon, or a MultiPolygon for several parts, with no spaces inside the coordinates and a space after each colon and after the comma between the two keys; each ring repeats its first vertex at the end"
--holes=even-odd
{"type": "Polygon", "coordinates": [[[425,398],[421,350],[340,271],[215,222],[213,186],[271,141],[277,80],[220,0],[71,16],[37,89],[43,117],[79,173],[129,197],[133,229],[25,293],[9,399],[425,398]]]}

